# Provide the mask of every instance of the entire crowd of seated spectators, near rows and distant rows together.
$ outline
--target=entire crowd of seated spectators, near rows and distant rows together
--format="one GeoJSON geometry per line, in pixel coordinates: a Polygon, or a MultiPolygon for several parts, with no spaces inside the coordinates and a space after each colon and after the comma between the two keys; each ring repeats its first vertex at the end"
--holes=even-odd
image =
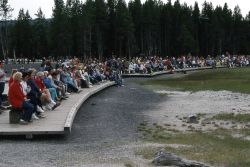
{"type": "MultiPolygon", "coordinates": [[[[13,69],[8,81],[8,101],[12,109],[22,111],[21,124],[44,118],[45,111],[57,108],[71,93],[79,93],[82,88],[90,88],[105,80],[115,81],[123,86],[122,74],[153,73],[164,70],[223,65],[228,67],[249,66],[249,57],[220,56],[218,59],[181,56],[178,58],[137,57],[132,60],[112,58],[105,62],[89,59],[85,63],[79,59],[44,60],[39,69],[13,69]]],[[[4,63],[0,62],[0,109],[6,75],[4,63]]]]}

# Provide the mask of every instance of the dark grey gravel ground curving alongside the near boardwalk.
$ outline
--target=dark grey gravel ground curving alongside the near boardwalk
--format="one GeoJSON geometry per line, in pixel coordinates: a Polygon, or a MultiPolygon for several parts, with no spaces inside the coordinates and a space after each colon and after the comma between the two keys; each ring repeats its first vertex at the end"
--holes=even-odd
{"type": "MultiPolygon", "coordinates": [[[[134,155],[138,125],[164,98],[126,80],[90,98],[78,112],[69,136],[1,138],[1,167],[124,166],[149,164],[134,155]],[[145,164],[146,163],[146,164],[145,164]]],[[[150,165],[149,165],[150,166],[150,165]]]]}

